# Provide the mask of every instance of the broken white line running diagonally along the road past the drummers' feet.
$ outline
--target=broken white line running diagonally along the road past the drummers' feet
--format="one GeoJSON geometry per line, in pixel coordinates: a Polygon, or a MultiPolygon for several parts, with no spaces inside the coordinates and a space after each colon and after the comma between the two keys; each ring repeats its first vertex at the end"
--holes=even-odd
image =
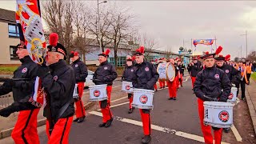
{"type": "MultiPolygon", "coordinates": [[[[97,112],[97,111],[91,111],[89,113],[97,115],[99,117],[102,117],[102,113],[97,112]]],[[[121,117],[118,117],[118,116],[114,116],[114,119],[118,120],[120,122],[130,123],[130,124],[133,124],[135,126],[142,126],[142,122],[135,121],[133,119],[121,118],[121,117]]],[[[177,135],[179,137],[188,138],[188,139],[191,139],[191,140],[194,140],[194,141],[198,141],[198,142],[204,142],[204,138],[203,137],[195,135],[195,134],[188,134],[188,133],[185,133],[185,132],[182,132],[182,131],[171,130],[170,128],[166,128],[166,127],[162,127],[162,126],[157,126],[157,125],[152,125],[152,124],[151,124],[151,128],[153,130],[162,131],[162,132],[167,133],[167,134],[175,134],[175,135],[177,135]]],[[[228,143],[227,142],[222,142],[222,144],[228,144],[228,143]]]]}

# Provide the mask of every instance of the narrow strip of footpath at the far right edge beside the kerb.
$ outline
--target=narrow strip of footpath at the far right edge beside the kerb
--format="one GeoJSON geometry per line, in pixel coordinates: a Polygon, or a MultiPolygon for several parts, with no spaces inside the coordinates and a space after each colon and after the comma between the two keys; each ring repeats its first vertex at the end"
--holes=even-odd
{"type": "Polygon", "coordinates": [[[252,78],[250,78],[250,85],[246,85],[246,102],[256,134],[256,82],[252,78]]]}

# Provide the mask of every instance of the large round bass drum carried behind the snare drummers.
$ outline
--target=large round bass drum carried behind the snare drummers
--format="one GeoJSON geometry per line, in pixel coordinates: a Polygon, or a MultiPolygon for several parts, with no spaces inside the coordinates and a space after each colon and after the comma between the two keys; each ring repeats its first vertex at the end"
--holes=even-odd
{"type": "Polygon", "coordinates": [[[159,63],[157,68],[160,80],[174,81],[175,78],[175,68],[170,62],[159,63]]]}

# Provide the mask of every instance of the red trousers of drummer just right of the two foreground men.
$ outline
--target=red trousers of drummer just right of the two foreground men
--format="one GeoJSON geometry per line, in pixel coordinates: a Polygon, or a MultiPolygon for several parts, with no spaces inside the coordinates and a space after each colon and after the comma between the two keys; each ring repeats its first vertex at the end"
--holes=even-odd
{"type": "Polygon", "coordinates": [[[84,85],[85,85],[85,82],[78,82],[78,96],[80,100],[75,102],[75,106],[76,106],[75,115],[77,118],[86,116],[86,110],[83,107],[83,103],[82,103],[82,93],[83,93],[84,85]]]}

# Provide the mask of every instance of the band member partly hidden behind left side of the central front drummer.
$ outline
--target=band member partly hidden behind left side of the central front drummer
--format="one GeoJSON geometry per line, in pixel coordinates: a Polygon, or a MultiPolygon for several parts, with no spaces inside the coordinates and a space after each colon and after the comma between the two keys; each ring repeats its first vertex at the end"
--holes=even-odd
{"type": "MultiPolygon", "coordinates": [[[[126,67],[122,74],[122,80],[131,82],[132,78],[134,77],[134,68],[133,68],[133,60],[130,55],[126,56],[126,67]]],[[[131,106],[131,103],[133,102],[134,95],[128,94],[129,99],[129,110],[128,114],[131,114],[134,111],[134,107],[131,106]]]]}

